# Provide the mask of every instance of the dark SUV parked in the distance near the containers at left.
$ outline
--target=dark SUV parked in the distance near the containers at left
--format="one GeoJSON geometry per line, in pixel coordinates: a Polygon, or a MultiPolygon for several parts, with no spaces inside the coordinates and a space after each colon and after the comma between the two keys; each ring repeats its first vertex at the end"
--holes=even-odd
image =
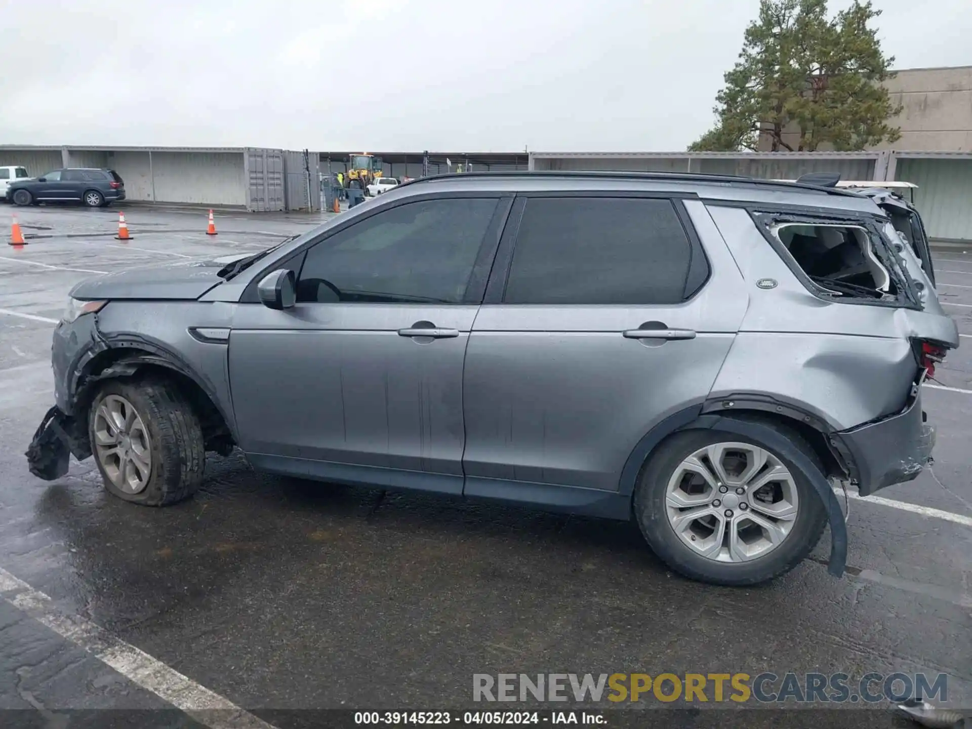
{"type": "Polygon", "coordinates": [[[17,205],[70,201],[97,208],[123,200],[124,181],[113,169],[67,167],[11,183],[7,188],[7,199],[17,205]]]}

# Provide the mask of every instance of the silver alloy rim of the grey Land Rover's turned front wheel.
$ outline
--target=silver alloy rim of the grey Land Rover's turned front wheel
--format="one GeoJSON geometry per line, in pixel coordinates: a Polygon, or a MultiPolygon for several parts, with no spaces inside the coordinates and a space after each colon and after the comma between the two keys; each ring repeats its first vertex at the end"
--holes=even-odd
{"type": "Polygon", "coordinates": [[[94,450],[105,474],[125,494],[138,494],[152,475],[152,441],[127,399],[109,395],[94,411],[94,450]]]}

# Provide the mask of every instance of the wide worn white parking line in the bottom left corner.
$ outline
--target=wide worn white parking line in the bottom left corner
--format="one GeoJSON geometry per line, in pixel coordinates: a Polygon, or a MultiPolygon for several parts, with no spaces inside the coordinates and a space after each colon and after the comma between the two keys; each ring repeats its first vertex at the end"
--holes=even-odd
{"type": "Polygon", "coordinates": [[[210,691],[191,678],[169,668],[134,645],[121,641],[80,615],[54,608],[50,597],[0,568],[0,592],[4,600],[23,610],[54,633],[85,649],[121,676],[137,683],[213,729],[274,729],[250,712],[210,691]]]}

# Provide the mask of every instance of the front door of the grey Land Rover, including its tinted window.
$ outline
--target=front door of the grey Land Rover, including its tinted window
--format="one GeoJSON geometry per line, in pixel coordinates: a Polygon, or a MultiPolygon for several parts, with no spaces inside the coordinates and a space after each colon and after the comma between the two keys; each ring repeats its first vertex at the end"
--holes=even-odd
{"type": "Polygon", "coordinates": [[[255,466],[462,491],[466,345],[507,208],[382,206],[307,250],[293,309],[238,305],[229,381],[255,466]]]}

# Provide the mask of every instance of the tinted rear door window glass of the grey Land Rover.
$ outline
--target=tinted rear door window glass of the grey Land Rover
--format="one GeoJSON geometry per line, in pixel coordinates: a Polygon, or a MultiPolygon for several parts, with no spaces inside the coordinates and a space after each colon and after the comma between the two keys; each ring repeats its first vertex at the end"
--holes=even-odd
{"type": "Polygon", "coordinates": [[[520,221],[503,302],[678,303],[708,277],[701,250],[693,248],[668,199],[533,198],[520,221]]]}

